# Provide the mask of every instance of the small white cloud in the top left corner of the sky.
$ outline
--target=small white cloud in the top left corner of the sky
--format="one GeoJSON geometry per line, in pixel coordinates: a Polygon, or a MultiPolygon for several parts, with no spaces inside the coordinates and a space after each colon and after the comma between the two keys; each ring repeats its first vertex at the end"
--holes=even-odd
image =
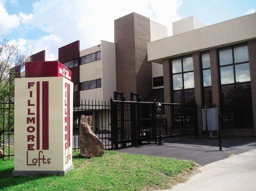
{"type": "Polygon", "coordinates": [[[13,29],[18,28],[19,17],[17,15],[9,15],[4,8],[3,1],[0,1],[0,35],[6,35],[13,29]]]}

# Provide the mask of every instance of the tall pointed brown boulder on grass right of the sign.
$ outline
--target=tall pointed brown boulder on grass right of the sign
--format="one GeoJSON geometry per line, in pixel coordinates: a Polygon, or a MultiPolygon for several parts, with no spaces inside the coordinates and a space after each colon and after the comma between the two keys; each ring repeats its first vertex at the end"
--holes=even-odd
{"type": "Polygon", "coordinates": [[[80,155],[91,158],[102,156],[105,152],[105,145],[94,134],[84,115],[81,116],[80,123],[80,155]]]}

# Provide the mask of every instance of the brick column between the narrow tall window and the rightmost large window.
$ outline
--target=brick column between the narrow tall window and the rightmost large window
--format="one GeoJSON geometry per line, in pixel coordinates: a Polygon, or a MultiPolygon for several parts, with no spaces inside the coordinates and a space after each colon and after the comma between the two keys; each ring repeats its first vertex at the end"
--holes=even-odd
{"type": "Polygon", "coordinates": [[[216,48],[210,49],[209,52],[210,52],[212,103],[215,104],[216,107],[220,107],[218,52],[216,48]]]}

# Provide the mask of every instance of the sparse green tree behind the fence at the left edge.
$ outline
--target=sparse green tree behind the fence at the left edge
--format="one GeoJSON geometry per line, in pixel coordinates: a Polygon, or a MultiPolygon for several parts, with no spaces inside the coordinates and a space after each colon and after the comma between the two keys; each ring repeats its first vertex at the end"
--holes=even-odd
{"type": "Polygon", "coordinates": [[[20,76],[26,61],[30,57],[18,45],[5,39],[0,42],[0,148],[8,138],[8,131],[13,132],[14,108],[10,102],[14,96],[14,78],[20,76]]]}

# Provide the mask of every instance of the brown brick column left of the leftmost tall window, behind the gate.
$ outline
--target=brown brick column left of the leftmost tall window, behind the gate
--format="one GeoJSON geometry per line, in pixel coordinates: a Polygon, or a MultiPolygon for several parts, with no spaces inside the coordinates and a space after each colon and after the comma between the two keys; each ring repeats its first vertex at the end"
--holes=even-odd
{"type": "Polygon", "coordinates": [[[169,59],[163,60],[165,103],[172,103],[172,81],[169,59]]]}

